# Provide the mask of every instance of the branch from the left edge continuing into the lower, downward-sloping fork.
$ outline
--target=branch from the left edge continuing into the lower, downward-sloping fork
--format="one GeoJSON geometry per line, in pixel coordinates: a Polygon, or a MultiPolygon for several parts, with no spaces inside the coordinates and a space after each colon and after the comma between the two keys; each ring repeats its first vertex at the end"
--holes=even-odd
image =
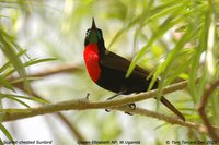
{"type": "MultiPolygon", "coordinates": [[[[126,111],[135,114],[141,114],[141,116],[147,116],[151,118],[155,118],[159,120],[166,121],[171,124],[178,124],[182,126],[186,126],[189,129],[195,129],[198,132],[206,132],[206,129],[201,124],[196,124],[192,122],[183,122],[180,119],[173,118],[173,117],[168,117],[165,114],[161,114],[154,111],[150,111],[147,109],[142,108],[136,108],[136,109],[130,109],[126,106],[120,106],[120,107],[113,107],[113,102],[116,100],[106,100],[102,102],[90,102],[89,100],[85,99],[80,99],[80,100],[68,100],[68,101],[61,101],[58,104],[54,105],[45,105],[38,108],[30,108],[30,109],[4,109],[2,111],[3,119],[2,121],[13,121],[18,119],[24,119],[24,118],[30,118],[30,117],[35,117],[39,114],[46,114],[46,113],[53,113],[57,111],[64,111],[64,110],[87,110],[87,109],[105,109],[105,108],[111,108],[114,110],[120,110],[120,111],[126,111]],[[104,102],[106,102],[106,106],[104,106],[104,102]],[[111,102],[111,104],[108,104],[111,102]]],[[[217,129],[217,128],[216,128],[217,129]]]]}

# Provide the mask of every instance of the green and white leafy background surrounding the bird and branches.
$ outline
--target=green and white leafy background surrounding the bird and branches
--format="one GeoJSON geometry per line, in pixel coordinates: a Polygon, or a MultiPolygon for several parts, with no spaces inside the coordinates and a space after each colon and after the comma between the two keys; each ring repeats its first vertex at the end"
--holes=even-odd
{"type": "MultiPolygon", "coordinates": [[[[203,123],[197,106],[205,85],[219,76],[218,14],[219,2],[214,0],[0,0],[1,109],[39,106],[33,96],[58,102],[84,98],[88,93],[96,101],[114,95],[96,86],[84,68],[83,40],[95,17],[106,48],[132,60],[131,68],[139,64],[150,70],[154,78],[160,76],[159,88],[188,80],[186,89],[172,93],[169,98],[187,121],[203,123]],[[28,77],[65,67],[76,68],[28,77]],[[18,76],[24,88],[10,81],[18,76]],[[197,77],[200,81],[196,84],[197,77]]],[[[218,94],[218,89],[214,92],[207,108],[217,126],[218,94]]],[[[174,116],[162,105],[157,109],[153,99],[137,106],[174,116]]],[[[62,113],[72,129],[57,116],[47,114],[1,123],[0,138],[51,140],[55,145],[77,144],[80,137],[140,141],[142,145],[209,138],[193,129],[119,111],[62,113]]]]}

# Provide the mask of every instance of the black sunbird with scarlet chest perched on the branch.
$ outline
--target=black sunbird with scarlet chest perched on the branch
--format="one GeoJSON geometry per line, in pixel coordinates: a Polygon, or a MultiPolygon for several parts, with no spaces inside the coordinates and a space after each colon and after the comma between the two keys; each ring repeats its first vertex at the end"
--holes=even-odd
{"type": "MultiPolygon", "coordinates": [[[[146,92],[152,81],[151,77],[147,78],[149,72],[139,65],[135,67],[129,77],[125,76],[130,61],[105,48],[102,29],[96,27],[94,17],[91,28],[87,29],[83,59],[91,80],[100,87],[117,95],[146,92]]],[[[159,78],[151,89],[157,89],[158,84],[159,78]]],[[[161,96],[159,100],[185,121],[185,117],[166,98],[161,96]]]]}

